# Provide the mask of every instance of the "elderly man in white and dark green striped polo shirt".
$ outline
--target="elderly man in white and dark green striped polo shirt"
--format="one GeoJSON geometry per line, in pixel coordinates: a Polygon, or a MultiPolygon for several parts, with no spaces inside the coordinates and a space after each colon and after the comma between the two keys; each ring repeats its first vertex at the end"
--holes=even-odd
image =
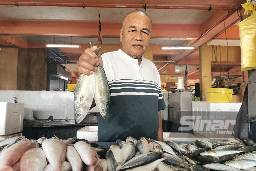
{"type": "Polygon", "coordinates": [[[125,140],[150,136],[163,141],[162,116],[165,108],[160,75],[156,66],[142,57],[148,48],[151,19],[141,11],[127,14],[122,22],[122,49],[97,56],[87,48],[80,56],[77,71],[91,75],[100,64],[110,87],[109,114],[99,115],[98,141],[125,140]]]}

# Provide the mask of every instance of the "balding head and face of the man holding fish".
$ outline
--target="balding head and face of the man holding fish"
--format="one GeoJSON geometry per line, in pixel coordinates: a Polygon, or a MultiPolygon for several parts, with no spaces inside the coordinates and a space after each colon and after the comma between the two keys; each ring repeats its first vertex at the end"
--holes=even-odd
{"type": "Polygon", "coordinates": [[[123,23],[123,32],[120,33],[122,50],[135,58],[145,53],[152,32],[152,23],[142,12],[129,14],[123,23]]]}

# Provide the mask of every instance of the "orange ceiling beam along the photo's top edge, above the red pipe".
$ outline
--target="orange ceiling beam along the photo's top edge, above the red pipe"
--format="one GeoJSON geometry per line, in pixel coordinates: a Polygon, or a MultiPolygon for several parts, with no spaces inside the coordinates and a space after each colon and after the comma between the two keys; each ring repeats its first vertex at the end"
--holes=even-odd
{"type": "MultiPolygon", "coordinates": [[[[16,0],[2,0],[1,2],[17,2],[16,0]]],[[[19,0],[18,2],[28,2],[31,3],[31,0],[19,0]]],[[[33,0],[34,3],[85,3],[84,0],[33,0]]],[[[242,2],[242,1],[241,1],[242,2]]],[[[205,5],[205,6],[221,6],[221,7],[235,7],[237,5],[237,0],[102,0],[102,1],[93,1],[87,0],[87,4],[161,4],[161,5],[205,5]]],[[[240,1],[239,1],[240,3],[240,1]]]]}

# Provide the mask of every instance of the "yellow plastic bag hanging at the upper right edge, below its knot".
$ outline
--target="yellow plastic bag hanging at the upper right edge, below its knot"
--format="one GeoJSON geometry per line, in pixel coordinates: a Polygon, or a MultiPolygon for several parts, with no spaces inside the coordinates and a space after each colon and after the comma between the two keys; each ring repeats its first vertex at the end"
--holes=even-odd
{"type": "Polygon", "coordinates": [[[238,23],[241,46],[241,71],[256,69],[256,12],[238,23]]]}

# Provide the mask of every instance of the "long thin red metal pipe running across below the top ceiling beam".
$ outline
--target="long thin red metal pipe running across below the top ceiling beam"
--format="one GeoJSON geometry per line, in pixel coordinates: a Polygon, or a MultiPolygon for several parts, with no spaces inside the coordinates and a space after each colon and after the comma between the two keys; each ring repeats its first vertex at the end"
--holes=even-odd
{"type": "MultiPolygon", "coordinates": [[[[144,5],[108,5],[108,4],[71,4],[71,3],[29,3],[29,2],[0,2],[0,5],[14,6],[57,6],[57,7],[97,7],[97,8],[143,8],[144,5]]],[[[198,9],[198,10],[233,10],[229,7],[202,7],[202,6],[160,6],[147,5],[149,9],[198,9]]]]}

